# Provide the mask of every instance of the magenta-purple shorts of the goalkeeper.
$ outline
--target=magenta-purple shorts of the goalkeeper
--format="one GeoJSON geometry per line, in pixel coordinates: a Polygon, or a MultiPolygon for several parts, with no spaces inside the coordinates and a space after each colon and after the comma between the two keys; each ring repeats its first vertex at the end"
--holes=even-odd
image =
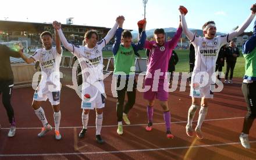
{"type": "Polygon", "coordinates": [[[160,101],[167,101],[168,95],[169,95],[168,94],[168,89],[169,89],[168,81],[166,81],[166,83],[164,83],[164,79],[159,79],[158,87],[156,86],[157,87],[156,90],[152,91],[153,80],[154,79],[145,79],[144,86],[147,86],[147,88],[148,88],[148,86],[150,86],[150,90],[145,88],[148,91],[144,92],[144,99],[152,101],[156,97],[160,101]],[[166,88],[165,90],[167,90],[167,91],[165,91],[163,88],[166,88]]]}

